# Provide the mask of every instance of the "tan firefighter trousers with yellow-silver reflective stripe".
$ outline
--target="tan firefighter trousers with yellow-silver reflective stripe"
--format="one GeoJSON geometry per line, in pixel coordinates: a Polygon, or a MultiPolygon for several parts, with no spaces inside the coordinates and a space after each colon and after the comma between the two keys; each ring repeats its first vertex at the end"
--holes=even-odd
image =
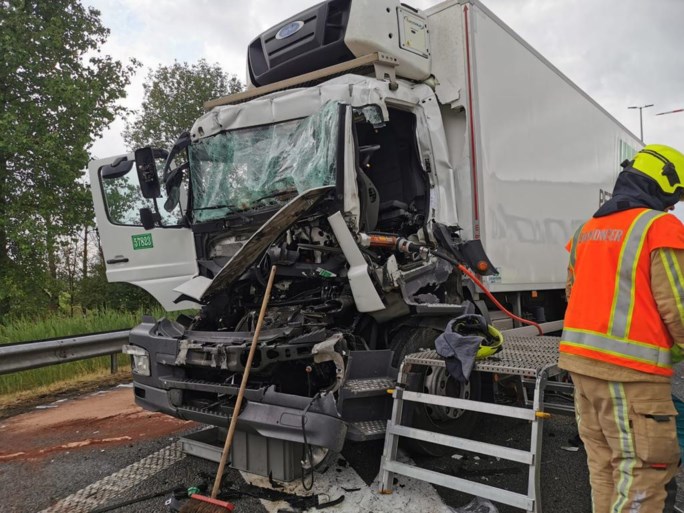
{"type": "Polygon", "coordinates": [[[671,384],[571,375],[593,513],[663,513],[679,461],[671,384]]]}

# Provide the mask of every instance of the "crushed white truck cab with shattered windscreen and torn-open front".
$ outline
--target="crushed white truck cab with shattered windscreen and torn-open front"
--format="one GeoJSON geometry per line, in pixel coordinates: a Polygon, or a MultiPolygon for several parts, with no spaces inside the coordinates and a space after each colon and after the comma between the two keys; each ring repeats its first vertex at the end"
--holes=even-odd
{"type": "MultiPolygon", "coordinates": [[[[172,212],[187,187],[189,226],[155,226],[153,246],[139,251],[151,253],[168,232],[191,233],[198,272],[179,276],[164,306],[202,307],[185,325],[144,319],[132,330],[128,351],[148,362],[134,365],[139,404],[225,425],[229,402],[219,398],[237,391],[276,265],[240,428],[302,442],[301,412],[318,394],[306,421],[312,445],[340,450],[348,424],[352,439],[382,434],[385,390],[396,375],[393,341],[406,329],[443,328],[470,297],[448,262],[364,244],[375,234],[427,244],[436,216],[457,224],[453,205],[439,201],[454,180],[443,139],[433,141],[443,133],[429,129],[430,118],[439,119],[434,91],[390,86],[344,76],[210,111],[195,123],[187,169],[167,172],[165,181],[172,212]],[[358,390],[342,390],[346,382],[358,390]],[[376,400],[366,397],[373,387],[383,394],[376,400]]],[[[111,164],[99,169],[106,174],[111,164]]],[[[111,179],[102,184],[103,206],[118,208],[120,189],[111,179]]],[[[454,247],[461,243],[445,232],[454,247]]]]}

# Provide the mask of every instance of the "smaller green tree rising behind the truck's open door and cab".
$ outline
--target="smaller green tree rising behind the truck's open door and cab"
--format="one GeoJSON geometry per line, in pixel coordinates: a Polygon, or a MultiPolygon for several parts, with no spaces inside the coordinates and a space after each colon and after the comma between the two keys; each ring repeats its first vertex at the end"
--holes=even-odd
{"type": "Polygon", "coordinates": [[[123,134],[129,149],[170,148],[204,113],[204,102],[243,89],[235,75],[228,76],[218,64],[204,59],[150,70],[143,87],[142,108],[126,123],[123,134]]]}

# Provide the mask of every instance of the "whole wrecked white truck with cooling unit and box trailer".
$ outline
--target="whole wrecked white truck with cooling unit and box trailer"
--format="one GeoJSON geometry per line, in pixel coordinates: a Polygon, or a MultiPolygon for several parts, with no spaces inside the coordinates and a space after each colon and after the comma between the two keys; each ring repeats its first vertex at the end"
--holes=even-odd
{"type": "MultiPolygon", "coordinates": [[[[449,320],[474,305],[513,326],[454,262],[518,316],[562,319],[564,245],[641,141],[477,0],[327,0],[257,37],[248,64],[248,89],[209,101],[169,152],[92,162],[95,213],[110,281],[199,308],[132,330],[147,409],[225,427],[277,266],[236,443],[306,443],[312,466],[383,436],[398,365],[449,320]]],[[[412,379],[491,397],[486,374],[412,379]]]]}

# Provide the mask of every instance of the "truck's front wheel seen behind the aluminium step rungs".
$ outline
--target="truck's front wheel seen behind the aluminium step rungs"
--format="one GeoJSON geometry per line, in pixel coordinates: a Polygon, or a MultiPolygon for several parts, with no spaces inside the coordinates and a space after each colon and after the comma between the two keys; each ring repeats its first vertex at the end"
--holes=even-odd
{"type": "MultiPolygon", "coordinates": [[[[399,367],[406,355],[411,353],[434,349],[435,339],[439,334],[439,331],[431,328],[412,328],[402,333],[392,344],[394,350],[393,365],[399,367]]],[[[475,401],[480,399],[481,378],[478,372],[473,372],[470,381],[461,385],[447,375],[444,367],[416,366],[414,369],[418,375],[414,376],[415,379],[409,380],[409,390],[475,401]]],[[[412,427],[426,431],[467,437],[475,428],[477,419],[478,413],[473,411],[407,402],[405,403],[403,422],[408,422],[412,427]]],[[[414,454],[446,456],[454,452],[453,448],[420,440],[402,438],[401,441],[404,448],[414,454]]]]}

